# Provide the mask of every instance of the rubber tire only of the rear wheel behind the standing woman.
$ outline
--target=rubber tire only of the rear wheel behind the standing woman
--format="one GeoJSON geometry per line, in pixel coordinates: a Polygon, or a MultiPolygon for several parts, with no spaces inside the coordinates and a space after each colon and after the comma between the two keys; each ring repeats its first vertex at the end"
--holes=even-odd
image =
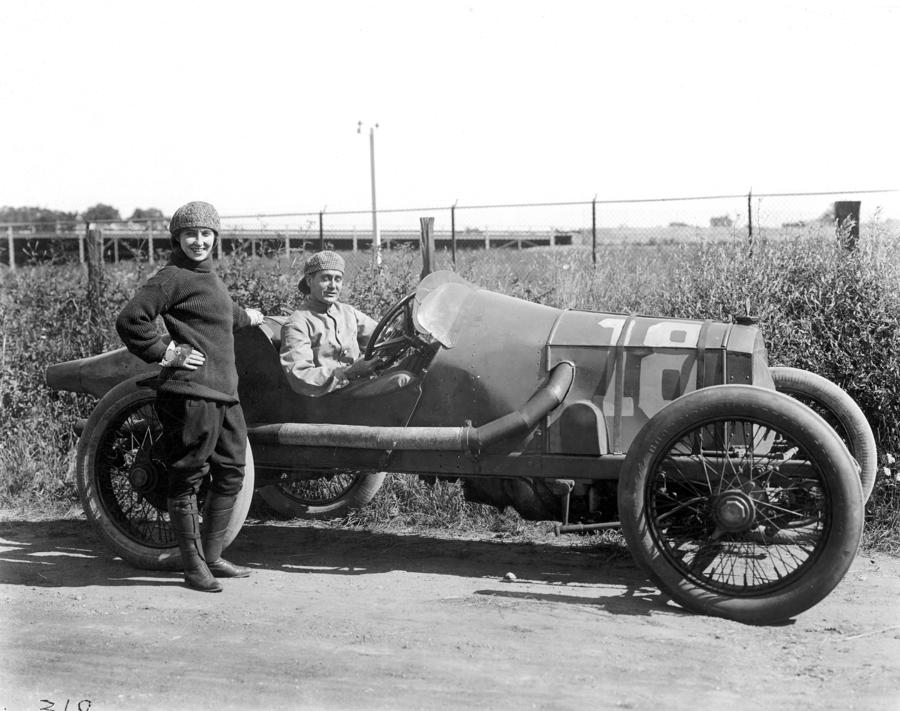
{"type": "MultiPolygon", "coordinates": [[[[84,513],[100,538],[124,560],[137,568],[146,570],[180,570],[181,554],[177,545],[168,547],[141,544],[126,534],[116,523],[113,513],[104,505],[98,493],[99,483],[96,479],[95,464],[99,447],[106,438],[106,433],[122,413],[134,410],[143,405],[153,403],[156,392],[150,388],[140,387],[137,380],[146,376],[132,378],[119,383],[97,403],[87,420],[84,431],[78,440],[75,462],[75,482],[84,513]]],[[[235,539],[250,510],[253,499],[254,466],[253,452],[247,443],[246,463],[244,466],[244,485],[234,502],[234,511],[225,533],[225,547],[235,539]]],[[[166,525],[168,523],[166,522],[166,525]]]]}

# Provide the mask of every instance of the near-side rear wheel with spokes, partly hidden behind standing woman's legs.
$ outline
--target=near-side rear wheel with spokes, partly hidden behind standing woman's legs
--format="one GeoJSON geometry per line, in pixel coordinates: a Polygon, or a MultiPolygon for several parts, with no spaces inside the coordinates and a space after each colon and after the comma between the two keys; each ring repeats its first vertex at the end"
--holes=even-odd
{"type": "MultiPolygon", "coordinates": [[[[148,570],[178,570],[181,555],[166,511],[165,468],[152,446],[162,435],[156,393],[120,383],[97,403],[78,440],[75,480],[85,515],[123,559],[148,570]]],[[[244,485],[225,534],[237,536],[253,498],[253,454],[247,445],[244,485]]],[[[198,495],[201,507],[206,486],[198,495]]]]}

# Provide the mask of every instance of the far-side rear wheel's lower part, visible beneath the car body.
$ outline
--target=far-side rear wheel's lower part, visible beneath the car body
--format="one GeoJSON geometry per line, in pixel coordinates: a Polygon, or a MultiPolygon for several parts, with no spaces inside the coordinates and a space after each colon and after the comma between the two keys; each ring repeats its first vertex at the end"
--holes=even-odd
{"type": "Polygon", "coordinates": [[[368,504],[384,483],[384,472],[344,469],[283,474],[277,484],[262,487],[263,501],[289,518],[336,518],[368,504]]]}

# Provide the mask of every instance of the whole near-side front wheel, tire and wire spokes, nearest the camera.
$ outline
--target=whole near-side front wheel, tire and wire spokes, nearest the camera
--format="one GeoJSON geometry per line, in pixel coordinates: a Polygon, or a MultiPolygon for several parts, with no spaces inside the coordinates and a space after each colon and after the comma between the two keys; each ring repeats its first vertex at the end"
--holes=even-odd
{"type": "Polygon", "coordinates": [[[771,390],[721,385],[657,413],[619,481],[638,564],[683,607],[774,624],[820,602],[862,535],[856,465],[827,423],[771,390]]]}

